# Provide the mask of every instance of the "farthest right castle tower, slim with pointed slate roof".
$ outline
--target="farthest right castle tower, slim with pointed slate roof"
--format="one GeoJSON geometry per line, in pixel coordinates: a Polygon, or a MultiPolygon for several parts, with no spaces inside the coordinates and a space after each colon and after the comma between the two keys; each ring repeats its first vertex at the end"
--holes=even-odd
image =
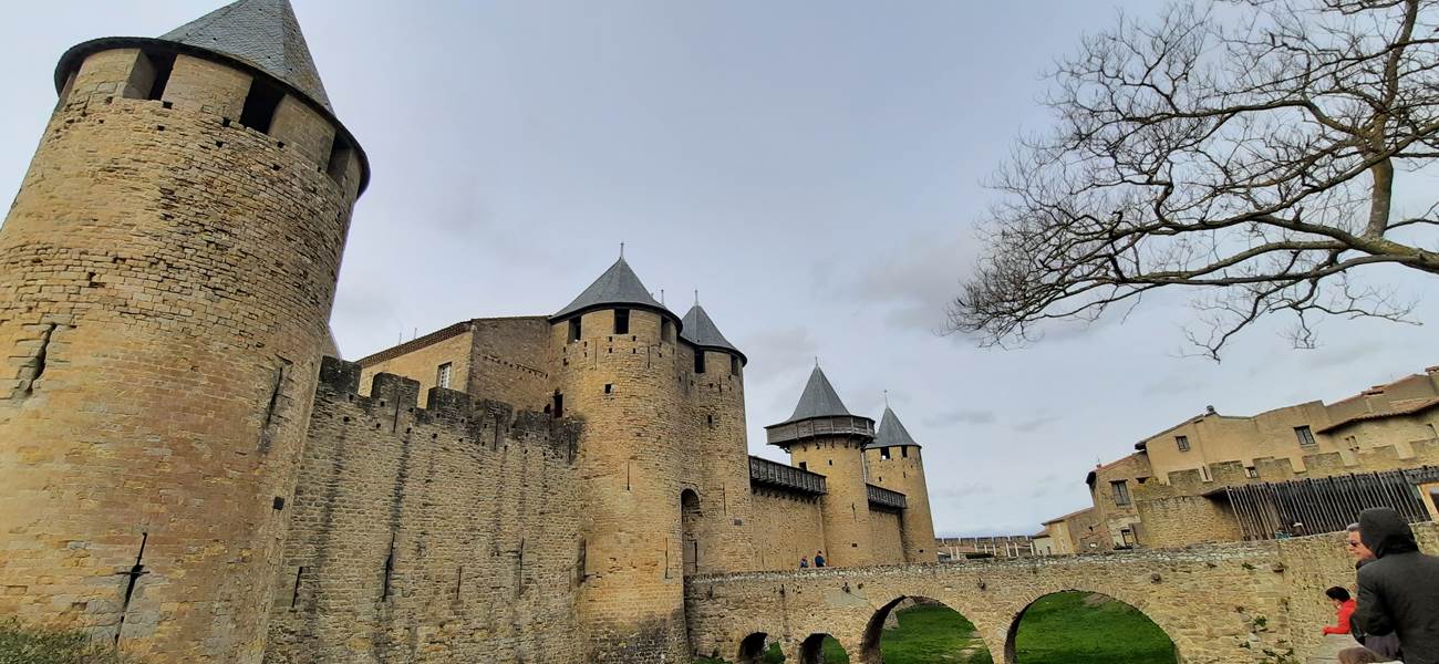
{"type": "Polygon", "coordinates": [[[879,418],[875,440],[865,447],[865,464],[869,469],[871,483],[905,496],[905,507],[899,515],[905,562],[937,562],[930,489],[924,483],[920,444],[888,405],[879,418]]]}

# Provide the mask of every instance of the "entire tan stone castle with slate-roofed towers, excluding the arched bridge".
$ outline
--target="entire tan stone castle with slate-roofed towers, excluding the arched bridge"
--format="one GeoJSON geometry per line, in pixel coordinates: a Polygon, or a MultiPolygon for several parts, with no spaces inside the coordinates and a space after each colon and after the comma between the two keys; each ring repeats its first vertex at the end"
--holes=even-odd
{"type": "Polygon", "coordinates": [[[327,356],[370,168],[286,0],[85,42],[56,89],[0,227],[0,615],[154,663],[682,663],[686,576],[935,561],[892,411],[816,366],[793,464],[748,456],[745,355],[623,259],[327,356]]]}

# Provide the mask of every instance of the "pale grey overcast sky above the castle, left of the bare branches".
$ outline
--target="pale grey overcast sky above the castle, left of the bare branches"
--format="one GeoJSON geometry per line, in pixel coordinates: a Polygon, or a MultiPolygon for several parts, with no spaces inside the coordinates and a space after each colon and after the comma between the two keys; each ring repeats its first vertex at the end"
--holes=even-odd
{"type": "MultiPolygon", "coordinates": [[[[50,0],[0,23],[0,198],[12,200],[82,40],[157,36],[220,6],[50,0]]],[[[1158,3],[1132,1],[1137,14],[1158,3]]],[[[1275,328],[1183,358],[1184,296],[981,349],[935,333],[977,250],[983,178],[1046,126],[1038,73],[1108,1],[296,0],[374,178],[332,325],[358,358],[456,321],[548,315],[614,260],[684,313],[695,289],[750,356],[750,450],[820,358],[850,411],[882,391],[924,446],[935,529],[1033,533],[1085,473],[1215,405],[1334,401],[1439,364],[1430,328],[1275,328]]],[[[1439,188],[1439,181],[1413,184],[1439,188]]],[[[1394,283],[1417,298],[1413,275],[1394,283]]],[[[1423,303],[1422,321],[1439,306],[1423,303]]]]}

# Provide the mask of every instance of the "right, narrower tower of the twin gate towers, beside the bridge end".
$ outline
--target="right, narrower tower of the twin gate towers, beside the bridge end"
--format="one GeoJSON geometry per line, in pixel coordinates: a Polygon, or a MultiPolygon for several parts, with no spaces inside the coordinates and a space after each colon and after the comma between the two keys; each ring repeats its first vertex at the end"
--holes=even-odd
{"type": "Polygon", "coordinates": [[[696,490],[698,509],[682,515],[685,572],[754,569],[750,503],[750,448],[744,423],[744,365],[699,302],[685,313],[679,332],[689,352],[689,402],[685,423],[695,428],[681,477],[696,490]]]}

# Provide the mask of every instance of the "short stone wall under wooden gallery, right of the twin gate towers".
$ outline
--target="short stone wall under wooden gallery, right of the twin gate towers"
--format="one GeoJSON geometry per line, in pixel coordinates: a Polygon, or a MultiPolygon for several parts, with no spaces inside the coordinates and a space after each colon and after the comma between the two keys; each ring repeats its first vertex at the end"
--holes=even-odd
{"type": "Polygon", "coordinates": [[[819,496],[754,487],[751,494],[757,569],[794,569],[825,548],[819,496]]]}

